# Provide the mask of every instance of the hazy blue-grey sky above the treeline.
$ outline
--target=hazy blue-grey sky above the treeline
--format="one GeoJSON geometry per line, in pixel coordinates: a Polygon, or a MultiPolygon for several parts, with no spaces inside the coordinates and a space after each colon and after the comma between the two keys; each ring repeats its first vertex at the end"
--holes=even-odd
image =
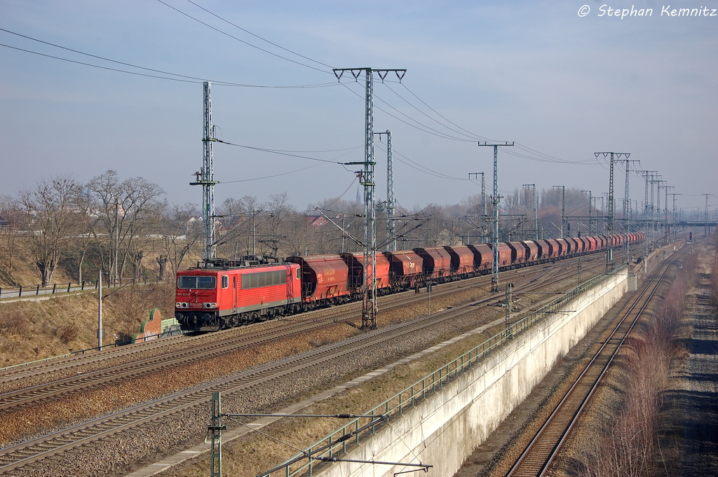
{"type": "MultiPolygon", "coordinates": [[[[194,1],[0,0],[0,194],[116,169],[157,182],[170,202],[201,203],[189,183],[210,80],[220,138],[330,161],[216,144],[218,204],[282,192],[298,209],[354,199],[358,167],[332,162],[363,160],[363,77],[341,85],[332,67],[373,67],[407,70],[401,84],[374,85],[375,131],[392,133],[403,207],[480,193],[470,172],[487,173],[490,193],[493,149],[477,146],[486,138],[521,145],[500,148],[503,193],[535,183],[600,195],[609,174],[594,153],[616,151],[676,186],[679,207],[703,207],[703,193],[718,204],[718,1],[194,1]]],[[[615,180],[621,198],[624,169],[615,180]]],[[[630,184],[643,200],[643,179],[630,184]]]]}

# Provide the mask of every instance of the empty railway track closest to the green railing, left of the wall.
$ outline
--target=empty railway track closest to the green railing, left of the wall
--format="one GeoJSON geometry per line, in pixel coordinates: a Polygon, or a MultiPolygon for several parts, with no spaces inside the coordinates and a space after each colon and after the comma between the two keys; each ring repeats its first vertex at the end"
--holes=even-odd
{"type": "MultiPolygon", "coordinates": [[[[521,272],[525,271],[521,270],[521,272]]],[[[543,271],[539,270],[539,272],[543,271]]],[[[556,273],[556,276],[569,275],[569,273],[572,273],[572,270],[564,270],[561,273],[556,273]]],[[[549,273],[545,275],[549,275],[549,273]]],[[[544,278],[547,280],[556,279],[556,277],[544,278]]],[[[544,286],[544,283],[531,283],[526,285],[523,291],[536,291],[544,288],[544,286]]],[[[361,334],[353,339],[325,346],[280,362],[266,364],[228,379],[220,379],[187,392],[180,392],[144,405],[132,407],[129,410],[114,412],[111,415],[91,420],[90,422],[84,422],[71,428],[27,440],[17,445],[11,445],[0,449],[0,472],[14,473],[19,471],[22,473],[24,466],[31,465],[42,459],[52,458],[69,450],[106,439],[108,436],[123,433],[125,430],[139,426],[142,426],[143,430],[145,430],[147,426],[153,425],[153,422],[160,420],[162,417],[174,415],[192,407],[205,406],[212,391],[219,390],[226,396],[238,392],[253,392],[254,389],[258,389],[258,387],[272,381],[285,380],[291,382],[293,379],[297,379],[294,376],[299,372],[305,372],[310,368],[331,367],[332,362],[341,362],[346,360],[348,356],[354,356],[361,351],[367,351],[373,347],[399,339],[406,339],[407,336],[421,333],[425,329],[433,329],[438,323],[455,320],[466,313],[471,313],[477,309],[475,308],[477,303],[495,299],[496,296],[489,296],[478,302],[467,303],[439,313],[422,316],[413,321],[361,334]]]]}

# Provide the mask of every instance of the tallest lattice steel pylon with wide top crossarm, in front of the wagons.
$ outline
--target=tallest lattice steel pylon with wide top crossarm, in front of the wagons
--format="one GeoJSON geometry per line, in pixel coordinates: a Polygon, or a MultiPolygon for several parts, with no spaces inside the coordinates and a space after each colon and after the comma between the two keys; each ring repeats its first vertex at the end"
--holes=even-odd
{"type": "Polygon", "coordinates": [[[352,74],[355,80],[359,79],[362,72],[366,80],[365,98],[365,143],[364,161],[348,162],[345,164],[361,164],[364,169],[360,171],[360,181],[364,186],[364,283],[362,286],[362,329],[376,329],[376,199],[374,189],[374,73],[376,72],[381,80],[384,80],[389,72],[395,72],[398,80],[404,77],[406,70],[374,70],[373,68],[335,68],[334,74],[337,80],[341,80],[345,71],[352,74]]]}

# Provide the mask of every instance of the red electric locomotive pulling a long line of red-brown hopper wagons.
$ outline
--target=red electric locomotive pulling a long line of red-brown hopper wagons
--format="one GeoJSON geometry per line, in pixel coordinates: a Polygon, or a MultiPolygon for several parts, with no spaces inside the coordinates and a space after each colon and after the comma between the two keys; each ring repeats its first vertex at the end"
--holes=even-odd
{"type": "MultiPolygon", "coordinates": [[[[641,242],[643,233],[498,244],[499,270],[641,242]]],[[[414,248],[376,255],[378,294],[491,273],[490,244],[414,248]]],[[[362,253],[288,257],[284,263],[210,259],[177,273],[174,317],[184,331],[217,331],[360,298],[362,253]]]]}

